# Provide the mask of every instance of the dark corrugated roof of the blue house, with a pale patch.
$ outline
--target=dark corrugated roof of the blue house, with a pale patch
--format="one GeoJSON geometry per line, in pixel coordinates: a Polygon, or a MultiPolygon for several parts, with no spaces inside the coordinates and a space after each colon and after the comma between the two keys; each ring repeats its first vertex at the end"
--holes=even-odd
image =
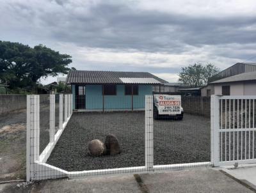
{"type": "Polygon", "coordinates": [[[70,70],[67,84],[163,84],[163,79],[148,72],[70,70]]]}

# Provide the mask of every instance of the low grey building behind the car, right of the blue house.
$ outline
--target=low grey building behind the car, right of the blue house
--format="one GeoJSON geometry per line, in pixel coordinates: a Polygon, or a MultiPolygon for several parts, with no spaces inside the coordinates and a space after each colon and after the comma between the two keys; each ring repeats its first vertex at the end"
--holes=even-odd
{"type": "Polygon", "coordinates": [[[179,89],[182,88],[188,88],[188,85],[179,83],[179,82],[169,82],[169,83],[164,83],[163,85],[159,86],[153,86],[153,91],[155,93],[179,93],[179,89]]]}

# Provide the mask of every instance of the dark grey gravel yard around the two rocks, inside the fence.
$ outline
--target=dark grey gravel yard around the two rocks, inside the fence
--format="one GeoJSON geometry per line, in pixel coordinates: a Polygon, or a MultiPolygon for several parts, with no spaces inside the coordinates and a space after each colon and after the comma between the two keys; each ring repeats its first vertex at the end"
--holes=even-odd
{"type": "MultiPolygon", "coordinates": [[[[48,164],[67,171],[145,166],[145,112],[74,113],[48,164]],[[88,142],[115,134],[122,153],[91,157],[88,142]]],[[[210,119],[154,120],[154,164],[210,161],[210,119]]]]}

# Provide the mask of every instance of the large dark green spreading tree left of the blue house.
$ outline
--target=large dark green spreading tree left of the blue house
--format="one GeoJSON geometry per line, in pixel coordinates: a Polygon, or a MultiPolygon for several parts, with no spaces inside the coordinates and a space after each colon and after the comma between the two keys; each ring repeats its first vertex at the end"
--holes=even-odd
{"type": "Polygon", "coordinates": [[[41,77],[67,74],[71,56],[44,45],[31,48],[22,43],[0,41],[0,81],[10,88],[33,86],[41,77]]]}

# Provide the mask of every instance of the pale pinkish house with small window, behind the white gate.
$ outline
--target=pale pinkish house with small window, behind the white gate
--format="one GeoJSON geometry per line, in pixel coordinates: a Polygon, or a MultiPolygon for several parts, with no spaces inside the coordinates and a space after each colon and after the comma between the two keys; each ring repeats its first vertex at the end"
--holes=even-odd
{"type": "Polygon", "coordinates": [[[214,95],[256,95],[256,72],[240,73],[210,83],[214,95]]]}

